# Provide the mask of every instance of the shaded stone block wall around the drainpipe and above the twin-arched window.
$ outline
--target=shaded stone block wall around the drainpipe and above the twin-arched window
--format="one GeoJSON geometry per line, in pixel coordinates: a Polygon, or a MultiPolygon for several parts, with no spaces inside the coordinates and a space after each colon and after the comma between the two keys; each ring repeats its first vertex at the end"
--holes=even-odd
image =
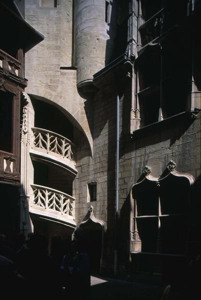
{"type": "MultiPolygon", "coordinates": [[[[104,265],[113,264],[115,226],[115,155],[116,155],[116,95],[115,86],[104,78],[104,86],[93,99],[93,159],[89,157],[87,145],[77,135],[78,175],[74,190],[79,204],[76,222],[83,221],[89,204],[94,206],[97,218],[107,222],[104,249],[104,265]],[[110,84],[109,84],[109,83],[110,84]],[[86,186],[91,179],[98,181],[98,200],[86,202],[86,186]]],[[[200,176],[200,118],[192,119],[186,114],[182,121],[171,121],[156,128],[150,125],[138,135],[128,132],[130,109],[130,84],[124,85],[120,94],[120,157],[119,157],[119,215],[120,245],[125,254],[129,239],[129,192],[139,179],[145,165],[152,175],[158,177],[170,159],[176,162],[176,170],[194,176],[195,185],[200,176]],[[152,126],[152,129],[151,129],[152,126]]],[[[178,117],[175,116],[174,120],[178,117]]],[[[163,121],[164,122],[164,121],[163,121]]],[[[76,140],[76,139],[75,139],[76,140]]],[[[173,192],[173,191],[172,191],[173,192]]],[[[197,200],[195,201],[198,205],[197,200]]],[[[194,202],[194,203],[195,203],[194,202]]]]}

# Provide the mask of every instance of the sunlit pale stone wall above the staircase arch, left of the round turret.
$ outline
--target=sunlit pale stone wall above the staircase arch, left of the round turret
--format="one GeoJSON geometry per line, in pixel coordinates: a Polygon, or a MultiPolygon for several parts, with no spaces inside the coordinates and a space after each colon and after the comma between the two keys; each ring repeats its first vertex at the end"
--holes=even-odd
{"type": "Polygon", "coordinates": [[[44,34],[45,39],[26,54],[26,92],[61,109],[88,138],[92,137],[86,117],[85,99],[77,91],[72,56],[72,0],[61,0],[58,7],[39,7],[38,0],[26,0],[26,20],[44,34]]]}

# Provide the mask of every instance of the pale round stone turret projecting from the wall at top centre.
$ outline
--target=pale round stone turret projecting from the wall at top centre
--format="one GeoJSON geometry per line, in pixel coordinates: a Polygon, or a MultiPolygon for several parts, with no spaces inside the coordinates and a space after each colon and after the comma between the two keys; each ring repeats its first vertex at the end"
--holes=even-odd
{"type": "Polygon", "coordinates": [[[91,86],[93,74],[105,66],[111,6],[105,0],[75,3],[77,85],[85,89],[91,86]]]}

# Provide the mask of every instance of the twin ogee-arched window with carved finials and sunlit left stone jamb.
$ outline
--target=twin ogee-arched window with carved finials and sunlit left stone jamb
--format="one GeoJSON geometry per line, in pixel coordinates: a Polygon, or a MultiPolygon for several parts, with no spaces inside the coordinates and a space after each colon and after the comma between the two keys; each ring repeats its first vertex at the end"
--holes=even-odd
{"type": "Polygon", "coordinates": [[[194,177],[170,160],[160,177],[145,166],[130,191],[130,252],[186,255],[194,177]]]}

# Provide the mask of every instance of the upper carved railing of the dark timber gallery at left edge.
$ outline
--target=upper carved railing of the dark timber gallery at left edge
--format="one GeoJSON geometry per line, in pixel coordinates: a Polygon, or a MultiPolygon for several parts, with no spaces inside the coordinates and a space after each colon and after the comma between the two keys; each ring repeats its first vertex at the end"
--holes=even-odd
{"type": "Polygon", "coordinates": [[[0,49],[0,67],[17,76],[22,76],[22,63],[2,49],[0,49]]]}

